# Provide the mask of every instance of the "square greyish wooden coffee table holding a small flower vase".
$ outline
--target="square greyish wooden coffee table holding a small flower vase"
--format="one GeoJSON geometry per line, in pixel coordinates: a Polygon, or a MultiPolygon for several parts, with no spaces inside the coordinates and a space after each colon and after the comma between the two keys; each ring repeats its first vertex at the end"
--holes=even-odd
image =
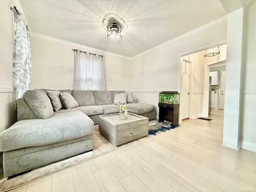
{"type": "Polygon", "coordinates": [[[119,113],[99,116],[99,131],[112,144],[120,146],[148,135],[148,118],[127,113],[119,119],[119,113]]]}

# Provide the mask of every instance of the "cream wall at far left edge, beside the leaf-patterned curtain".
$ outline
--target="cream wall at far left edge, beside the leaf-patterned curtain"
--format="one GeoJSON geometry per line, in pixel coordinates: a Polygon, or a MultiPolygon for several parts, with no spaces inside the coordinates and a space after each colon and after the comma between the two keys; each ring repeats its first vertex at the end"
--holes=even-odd
{"type": "MultiPolygon", "coordinates": [[[[16,112],[12,100],[12,11],[11,0],[0,1],[0,132],[16,121],[16,112]]],[[[0,154],[0,180],[2,178],[2,153],[0,154]]]]}

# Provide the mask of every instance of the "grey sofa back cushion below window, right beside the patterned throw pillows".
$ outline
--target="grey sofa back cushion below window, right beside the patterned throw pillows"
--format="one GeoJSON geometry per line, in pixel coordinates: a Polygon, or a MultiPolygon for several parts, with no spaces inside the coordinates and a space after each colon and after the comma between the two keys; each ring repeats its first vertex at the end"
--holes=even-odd
{"type": "Polygon", "coordinates": [[[79,106],[95,105],[93,90],[73,90],[72,96],[79,106]]]}

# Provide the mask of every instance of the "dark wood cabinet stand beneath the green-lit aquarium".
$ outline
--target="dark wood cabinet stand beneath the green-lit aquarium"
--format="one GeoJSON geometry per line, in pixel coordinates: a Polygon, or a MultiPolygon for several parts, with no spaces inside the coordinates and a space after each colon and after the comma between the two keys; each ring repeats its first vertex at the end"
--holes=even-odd
{"type": "Polygon", "coordinates": [[[159,107],[159,122],[169,121],[172,126],[178,125],[179,120],[179,104],[158,103],[159,107]]]}

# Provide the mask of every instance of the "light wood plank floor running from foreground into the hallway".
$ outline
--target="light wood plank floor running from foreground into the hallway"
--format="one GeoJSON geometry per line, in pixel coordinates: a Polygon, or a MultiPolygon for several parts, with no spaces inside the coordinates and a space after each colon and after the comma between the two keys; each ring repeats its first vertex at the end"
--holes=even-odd
{"type": "Polygon", "coordinates": [[[256,192],[256,153],[222,146],[223,110],[10,192],[256,192]]]}

